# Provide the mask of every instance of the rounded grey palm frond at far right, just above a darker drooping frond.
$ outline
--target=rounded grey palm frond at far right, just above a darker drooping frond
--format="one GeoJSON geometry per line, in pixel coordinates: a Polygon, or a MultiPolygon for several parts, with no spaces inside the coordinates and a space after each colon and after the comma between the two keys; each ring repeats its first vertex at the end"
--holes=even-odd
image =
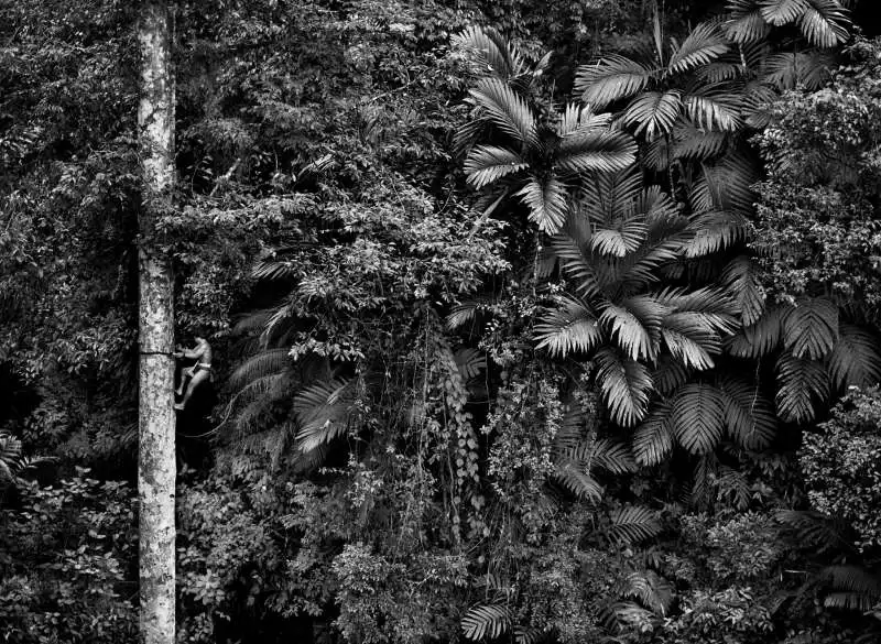
{"type": "Polygon", "coordinates": [[[838,307],[820,297],[804,297],[786,309],[783,343],[796,358],[818,360],[838,340],[838,307]]]}

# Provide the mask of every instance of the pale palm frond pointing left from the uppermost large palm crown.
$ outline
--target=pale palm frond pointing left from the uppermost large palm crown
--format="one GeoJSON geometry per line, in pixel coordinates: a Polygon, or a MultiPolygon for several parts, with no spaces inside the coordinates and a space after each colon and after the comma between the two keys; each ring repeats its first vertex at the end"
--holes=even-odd
{"type": "Polygon", "coordinates": [[[600,110],[642,91],[651,79],[652,72],[637,61],[612,55],[578,67],[575,91],[591,108],[600,110]]]}

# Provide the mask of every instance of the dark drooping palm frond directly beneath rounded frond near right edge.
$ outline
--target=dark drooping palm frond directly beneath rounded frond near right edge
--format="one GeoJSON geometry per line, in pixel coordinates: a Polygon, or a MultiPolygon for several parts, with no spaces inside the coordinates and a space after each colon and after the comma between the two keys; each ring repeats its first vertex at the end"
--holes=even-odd
{"type": "Polygon", "coordinates": [[[813,400],[829,395],[829,376],[823,363],[783,353],[777,360],[777,414],[783,421],[806,423],[814,418],[813,400]]]}

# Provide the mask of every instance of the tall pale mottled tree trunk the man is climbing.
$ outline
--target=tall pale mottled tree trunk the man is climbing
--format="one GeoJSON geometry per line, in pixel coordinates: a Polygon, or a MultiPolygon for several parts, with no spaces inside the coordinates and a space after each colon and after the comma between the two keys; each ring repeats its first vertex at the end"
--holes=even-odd
{"type": "Polygon", "coordinates": [[[138,495],[142,644],[175,640],[174,301],[171,262],[160,249],[155,230],[156,219],[172,206],[174,187],[172,33],[166,0],[141,0],[138,495]]]}

